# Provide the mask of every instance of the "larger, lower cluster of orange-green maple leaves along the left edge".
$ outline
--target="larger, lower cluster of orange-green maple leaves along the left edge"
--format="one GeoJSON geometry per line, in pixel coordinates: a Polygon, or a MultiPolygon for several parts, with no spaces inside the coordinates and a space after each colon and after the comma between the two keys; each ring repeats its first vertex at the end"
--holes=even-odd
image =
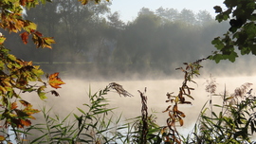
{"type": "MultiPolygon", "coordinates": [[[[35,92],[40,99],[46,99],[46,82],[41,80],[44,72],[32,62],[25,62],[9,54],[9,49],[3,44],[0,45],[0,59],[0,119],[4,121],[2,124],[5,128],[10,126],[13,129],[29,126],[29,119],[34,119],[32,115],[39,111],[33,109],[27,100],[22,99],[21,94],[35,92]]],[[[52,80],[48,82],[64,84],[52,80]]],[[[50,92],[58,95],[54,90],[50,92]]]]}

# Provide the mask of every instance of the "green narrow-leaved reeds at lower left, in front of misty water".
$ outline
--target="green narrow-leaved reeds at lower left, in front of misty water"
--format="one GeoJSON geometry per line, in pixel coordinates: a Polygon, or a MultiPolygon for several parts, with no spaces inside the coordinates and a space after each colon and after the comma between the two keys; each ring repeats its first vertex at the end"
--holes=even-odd
{"type": "Polygon", "coordinates": [[[78,108],[81,116],[71,114],[62,119],[58,115],[51,117],[51,109],[43,108],[44,123],[36,123],[30,127],[19,131],[24,135],[23,140],[27,143],[110,143],[117,135],[112,135],[116,131],[120,117],[114,121],[114,108],[108,108],[108,100],[103,96],[109,91],[109,87],[92,94],[88,94],[89,102],[84,103],[84,108],[78,108]],[[75,119],[68,121],[68,118],[75,119]],[[32,135],[36,134],[36,135],[32,135]],[[108,136],[107,136],[108,135],[108,136]],[[32,138],[31,138],[32,137],[32,138]]]}

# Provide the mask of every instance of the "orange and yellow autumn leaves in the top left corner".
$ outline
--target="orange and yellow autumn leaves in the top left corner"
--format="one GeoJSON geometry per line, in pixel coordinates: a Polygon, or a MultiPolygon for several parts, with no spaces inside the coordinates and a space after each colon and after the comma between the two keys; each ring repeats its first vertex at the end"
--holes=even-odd
{"type": "MultiPolygon", "coordinates": [[[[44,4],[46,3],[45,0],[42,0],[41,2],[44,4]]],[[[51,44],[55,43],[53,38],[44,37],[42,33],[36,30],[36,24],[32,23],[31,21],[25,20],[23,17],[24,8],[34,8],[38,4],[39,2],[37,0],[1,1],[0,7],[2,9],[0,27],[9,30],[9,32],[17,33],[20,31],[24,31],[20,34],[24,44],[27,44],[28,36],[31,35],[32,40],[37,47],[51,48],[51,44]]],[[[2,40],[0,40],[0,42],[2,41],[3,38],[2,40]]]]}

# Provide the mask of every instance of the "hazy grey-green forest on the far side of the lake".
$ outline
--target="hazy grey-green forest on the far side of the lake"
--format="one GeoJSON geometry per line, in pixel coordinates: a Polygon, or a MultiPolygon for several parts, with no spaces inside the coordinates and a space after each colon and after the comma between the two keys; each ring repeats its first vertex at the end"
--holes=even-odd
{"type": "Polygon", "coordinates": [[[46,71],[171,75],[183,62],[210,55],[214,50],[210,42],[229,27],[206,10],[172,8],[142,8],[134,21],[124,23],[119,12],[111,13],[110,5],[55,0],[29,9],[24,16],[54,37],[53,49],[36,49],[31,42],[23,45],[20,37],[3,32],[7,40],[12,39],[6,45],[17,57],[40,63],[46,71]]]}

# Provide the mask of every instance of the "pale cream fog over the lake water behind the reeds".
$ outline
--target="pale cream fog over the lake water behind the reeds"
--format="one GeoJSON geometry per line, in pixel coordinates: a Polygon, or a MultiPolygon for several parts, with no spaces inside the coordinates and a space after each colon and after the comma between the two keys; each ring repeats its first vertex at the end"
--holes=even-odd
{"type": "MultiPolygon", "coordinates": [[[[213,76],[214,77],[214,76],[213,76]]],[[[240,87],[246,82],[255,83],[256,77],[254,76],[245,76],[245,77],[214,77],[217,81],[217,93],[222,93],[225,89],[228,90],[229,94],[233,93],[234,89],[240,87]]],[[[192,97],[194,100],[186,98],[186,100],[192,101],[191,104],[179,105],[179,109],[185,113],[186,117],[184,118],[184,126],[178,128],[178,131],[181,134],[187,134],[192,130],[192,127],[198,117],[202,106],[210,99],[209,94],[205,92],[206,80],[209,79],[209,76],[202,76],[200,78],[195,78],[194,83],[188,83],[192,88],[195,88],[192,91],[192,97]]],[[[122,113],[123,119],[133,118],[140,116],[141,102],[139,93],[137,90],[143,92],[144,88],[147,88],[146,96],[148,97],[148,110],[149,114],[152,114],[152,111],[156,112],[156,122],[160,126],[166,125],[165,121],[168,118],[167,113],[162,113],[170,103],[166,103],[167,92],[174,92],[174,95],[177,95],[178,88],[182,84],[181,79],[166,79],[166,80],[144,80],[144,81],[115,81],[123,86],[125,90],[134,95],[134,97],[120,97],[115,91],[110,91],[108,95],[104,96],[110,100],[110,107],[118,107],[115,110],[115,115],[117,117],[122,113]]],[[[37,101],[38,106],[42,107],[43,104],[46,105],[46,108],[53,107],[53,113],[61,115],[63,117],[67,116],[69,113],[74,112],[80,114],[77,110],[79,108],[85,108],[83,103],[88,102],[88,93],[89,89],[94,94],[95,92],[105,88],[110,82],[113,81],[86,81],[85,79],[64,79],[64,84],[61,89],[57,91],[60,93],[60,97],[54,97],[48,95],[46,102],[43,102],[37,98],[33,101],[37,101]]],[[[255,84],[251,88],[255,89],[255,84]]],[[[255,94],[254,92],[252,94],[255,94]]],[[[221,97],[213,97],[212,102],[218,103],[222,99],[221,97]]],[[[33,102],[36,105],[36,102],[33,102]]],[[[207,104],[209,105],[209,104],[207,104]]]]}

